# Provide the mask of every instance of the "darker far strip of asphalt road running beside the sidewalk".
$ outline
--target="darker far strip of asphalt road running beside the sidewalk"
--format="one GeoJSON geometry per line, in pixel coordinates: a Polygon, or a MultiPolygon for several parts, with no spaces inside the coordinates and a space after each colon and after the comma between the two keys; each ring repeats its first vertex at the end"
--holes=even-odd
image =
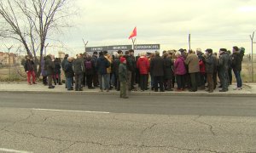
{"type": "Polygon", "coordinates": [[[256,116],[254,97],[189,97],[0,93],[0,107],[157,115],[256,116]]]}

